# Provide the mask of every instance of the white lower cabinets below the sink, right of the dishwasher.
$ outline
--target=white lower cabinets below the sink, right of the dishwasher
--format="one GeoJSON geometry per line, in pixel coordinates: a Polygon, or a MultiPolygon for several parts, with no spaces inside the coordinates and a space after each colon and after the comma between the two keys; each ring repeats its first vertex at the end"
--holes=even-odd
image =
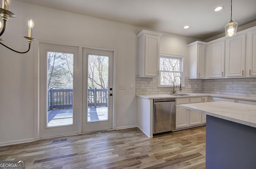
{"type": "Polygon", "coordinates": [[[180,108],[180,104],[207,102],[207,97],[176,99],[176,130],[206,123],[206,114],[180,108]]]}

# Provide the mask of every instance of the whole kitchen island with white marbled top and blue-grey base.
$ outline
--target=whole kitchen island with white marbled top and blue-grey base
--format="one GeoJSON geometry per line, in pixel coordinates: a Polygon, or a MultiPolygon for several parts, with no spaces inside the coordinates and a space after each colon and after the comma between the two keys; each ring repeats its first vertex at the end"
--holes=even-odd
{"type": "Polygon", "coordinates": [[[180,105],[206,114],[206,168],[256,168],[256,106],[234,102],[180,105]]]}

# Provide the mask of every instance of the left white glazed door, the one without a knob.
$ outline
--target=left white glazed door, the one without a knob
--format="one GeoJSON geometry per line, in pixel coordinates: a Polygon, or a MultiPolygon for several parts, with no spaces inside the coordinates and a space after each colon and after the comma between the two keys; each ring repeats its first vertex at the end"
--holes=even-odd
{"type": "Polygon", "coordinates": [[[78,134],[79,47],[40,43],[39,137],[78,134]]]}

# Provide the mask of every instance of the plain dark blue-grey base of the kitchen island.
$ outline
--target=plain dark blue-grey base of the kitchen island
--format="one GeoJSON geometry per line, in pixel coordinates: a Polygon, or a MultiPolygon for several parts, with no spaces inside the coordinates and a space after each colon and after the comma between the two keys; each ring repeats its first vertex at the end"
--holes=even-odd
{"type": "Polygon", "coordinates": [[[256,169],[256,128],[206,116],[206,169],[256,169]]]}

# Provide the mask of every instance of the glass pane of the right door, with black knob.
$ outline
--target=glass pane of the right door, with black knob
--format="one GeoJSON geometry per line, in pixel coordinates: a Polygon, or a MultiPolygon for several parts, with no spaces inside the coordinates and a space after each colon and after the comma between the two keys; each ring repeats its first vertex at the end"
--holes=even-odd
{"type": "Polygon", "coordinates": [[[87,122],[108,120],[108,56],[88,55],[87,122]]]}

